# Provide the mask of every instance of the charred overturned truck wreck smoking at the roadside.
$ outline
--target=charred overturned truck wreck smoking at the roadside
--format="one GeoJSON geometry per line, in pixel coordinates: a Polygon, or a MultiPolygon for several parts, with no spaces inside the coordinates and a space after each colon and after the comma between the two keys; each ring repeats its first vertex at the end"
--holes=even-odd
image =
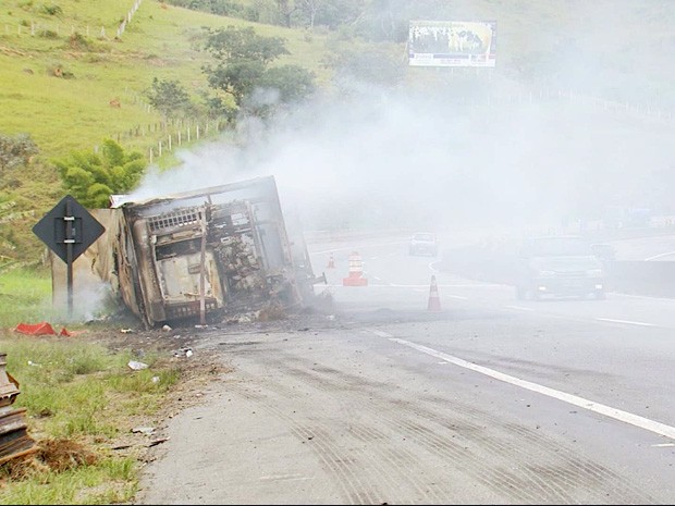
{"type": "Polygon", "coordinates": [[[273,176],[124,201],[108,231],[115,289],[146,326],[303,307],[315,276],[300,232],[289,236],[273,176]]]}

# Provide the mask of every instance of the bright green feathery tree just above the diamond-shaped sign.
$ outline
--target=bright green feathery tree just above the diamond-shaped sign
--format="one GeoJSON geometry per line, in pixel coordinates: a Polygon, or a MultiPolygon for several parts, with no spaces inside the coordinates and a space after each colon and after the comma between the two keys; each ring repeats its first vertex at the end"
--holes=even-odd
{"type": "Polygon", "coordinates": [[[100,155],[72,151],[54,164],[65,189],[88,208],[107,208],[111,195],[133,190],[146,168],[140,152],[126,153],[111,139],[103,140],[100,155]]]}

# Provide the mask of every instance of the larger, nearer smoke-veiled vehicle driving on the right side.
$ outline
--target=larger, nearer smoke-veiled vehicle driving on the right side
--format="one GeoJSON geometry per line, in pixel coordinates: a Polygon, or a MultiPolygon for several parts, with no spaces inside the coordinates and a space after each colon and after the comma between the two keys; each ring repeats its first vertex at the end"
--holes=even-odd
{"type": "Polygon", "coordinates": [[[517,267],[520,299],[545,296],[605,297],[605,270],[590,244],[579,236],[526,239],[517,267]]]}

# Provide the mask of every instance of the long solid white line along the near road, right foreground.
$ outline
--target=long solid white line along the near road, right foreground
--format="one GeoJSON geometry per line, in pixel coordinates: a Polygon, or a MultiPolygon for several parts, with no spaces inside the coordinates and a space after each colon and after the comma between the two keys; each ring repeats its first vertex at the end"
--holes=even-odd
{"type": "Polygon", "coordinates": [[[576,395],[567,394],[565,392],[561,392],[554,388],[549,388],[548,386],[539,385],[530,381],[520,380],[519,378],[504,374],[503,372],[495,371],[494,369],[478,366],[467,360],[453,357],[452,355],[447,355],[442,351],[437,351],[435,349],[428,348],[427,346],[412,343],[406,340],[400,340],[397,337],[392,336],[391,334],[388,334],[386,332],[382,332],[382,331],[370,331],[370,332],[372,332],[376,335],[379,335],[380,337],[385,337],[389,341],[392,341],[394,343],[398,343],[403,346],[417,349],[418,351],[421,351],[424,354],[427,354],[432,357],[440,358],[447,362],[454,363],[455,366],[459,366],[465,369],[470,369],[471,371],[478,372],[480,374],[486,374],[490,378],[494,378],[495,380],[503,381],[505,383],[510,383],[512,385],[519,386],[521,388],[529,390],[538,394],[547,395],[549,397],[562,400],[567,404],[572,404],[579,408],[588,409],[589,411],[598,412],[600,415],[604,415],[605,417],[613,418],[615,420],[629,423],[640,429],[648,430],[655,434],[665,435],[666,437],[675,440],[675,427],[666,425],[665,423],[650,420],[648,418],[643,418],[638,415],[634,415],[631,412],[622,411],[621,409],[616,409],[611,406],[605,406],[603,404],[594,403],[592,400],[585,399],[584,397],[578,397],[576,395]]]}

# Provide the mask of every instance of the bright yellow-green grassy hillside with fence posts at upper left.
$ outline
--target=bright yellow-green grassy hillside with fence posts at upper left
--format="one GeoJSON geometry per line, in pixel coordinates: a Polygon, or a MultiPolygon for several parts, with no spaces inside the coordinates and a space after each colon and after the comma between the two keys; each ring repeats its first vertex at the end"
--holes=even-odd
{"type": "MultiPolygon", "coordinates": [[[[45,13],[41,2],[25,0],[3,2],[0,11],[0,131],[30,133],[48,157],[91,148],[103,137],[158,123],[160,116],[143,102],[154,77],[180,81],[197,100],[207,89],[200,66],[209,59],[195,45],[201,28],[250,25],[145,0],[115,39],[119,22],[133,2],[54,4],[61,8],[58,15],[45,13]],[[72,41],[73,33],[84,37],[72,41]],[[57,69],[61,77],[54,75],[57,69]],[[121,107],[111,107],[113,100],[121,107]]],[[[292,55],[285,63],[321,72],[322,46],[316,39],[307,41],[302,32],[281,27],[256,29],[287,39],[292,55]]],[[[132,138],[125,147],[147,152],[156,144],[151,137],[132,138]]]]}

